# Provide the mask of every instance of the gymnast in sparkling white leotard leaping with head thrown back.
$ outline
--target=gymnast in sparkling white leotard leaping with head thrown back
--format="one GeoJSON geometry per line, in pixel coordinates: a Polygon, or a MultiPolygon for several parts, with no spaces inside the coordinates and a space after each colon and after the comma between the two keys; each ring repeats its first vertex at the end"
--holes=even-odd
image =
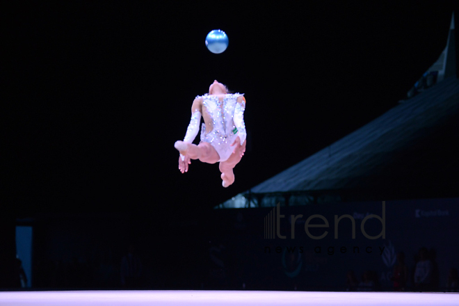
{"type": "Polygon", "coordinates": [[[243,94],[228,93],[227,87],[216,80],[209,87],[208,94],[196,97],[191,106],[191,121],[185,138],[175,142],[175,148],[180,152],[180,172],[188,172],[190,159],[199,159],[203,163],[220,162],[223,187],[233,184],[233,168],[245,152],[244,110],[243,94]],[[201,141],[199,145],[194,145],[201,116],[204,119],[201,141]]]}

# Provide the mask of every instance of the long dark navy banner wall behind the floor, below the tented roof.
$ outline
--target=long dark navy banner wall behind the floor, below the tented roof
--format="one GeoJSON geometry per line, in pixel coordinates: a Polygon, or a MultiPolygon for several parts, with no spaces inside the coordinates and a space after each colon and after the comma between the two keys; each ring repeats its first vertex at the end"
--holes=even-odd
{"type": "MultiPolygon", "coordinates": [[[[384,239],[368,239],[360,228],[364,216],[383,216],[382,202],[376,201],[280,207],[285,239],[264,238],[264,218],[271,207],[171,214],[163,216],[167,220],[161,227],[149,223],[150,216],[48,216],[35,220],[33,227],[33,286],[120,289],[121,259],[134,237],[143,266],[139,289],[346,291],[348,271],[355,273],[357,284],[365,271],[372,271],[373,290],[392,291],[396,257],[404,252],[409,274],[405,290],[419,291],[414,266],[419,248],[426,247],[437,272],[429,291],[445,291],[450,269],[459,266],[459,238],[453,234],[459,230],[458,203],[457,198],[385,201],[384,239]],[[303,215],[294,238],[291,214],[303,215]],[[328,220],[329,228],[309,229],[314,236],[328,231],[323,239],[305,234],[305,220],[313,214],[328,220]],[[339,238],[334,237],[334,215],[344,214],[355,219],[355,239],[346,218],[339,222],[339,238]]],[[[319,219],[312,223],[323,224],[319,219]]],[[[364,229],[371,236],[383,232],[376,218],[367,220],[364,229]]]]}

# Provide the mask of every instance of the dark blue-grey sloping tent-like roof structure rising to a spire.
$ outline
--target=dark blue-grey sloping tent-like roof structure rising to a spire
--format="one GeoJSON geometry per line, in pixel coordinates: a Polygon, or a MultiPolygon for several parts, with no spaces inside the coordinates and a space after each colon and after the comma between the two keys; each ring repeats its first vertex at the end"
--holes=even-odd
{"type": "Polygon", "coordinates": [[[215,208],[457,196],[459,79],[453,20],[446,48],[408,99],[215,208]]]}

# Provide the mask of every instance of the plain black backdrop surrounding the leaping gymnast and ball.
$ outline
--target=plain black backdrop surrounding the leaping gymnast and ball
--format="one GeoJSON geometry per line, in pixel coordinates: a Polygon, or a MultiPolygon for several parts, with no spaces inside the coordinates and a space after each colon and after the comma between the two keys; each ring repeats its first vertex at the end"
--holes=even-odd
{"type": "Polygon", "coordinates": [[[131,218],[127,241],[140,223],[161,232],[173,216],[203,214],[396,106],[440,56],[452,11],[453,1],[3,3],[3,224],[118,213],[131,218]],[[213,29],[230,39],[223,54],[204,45],[213,29]],[[229,188],[217,165],[193,161],[182,175],[173,147],[214,79],[247,99],[248,150],[229,188]]]}

